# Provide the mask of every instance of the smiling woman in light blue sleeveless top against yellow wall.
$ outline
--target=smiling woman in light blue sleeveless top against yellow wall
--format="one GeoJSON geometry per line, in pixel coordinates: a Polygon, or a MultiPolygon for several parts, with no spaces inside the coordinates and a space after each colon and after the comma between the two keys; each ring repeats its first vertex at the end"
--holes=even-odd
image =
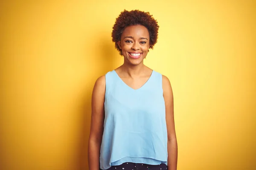
{"type": "Polygon", "coordinates": [[[143,64],[158,28],[148,12],[116,18],[112,38],[124,63],[93,88],[89,170],[177,169],[172,87],[143,64]]]}

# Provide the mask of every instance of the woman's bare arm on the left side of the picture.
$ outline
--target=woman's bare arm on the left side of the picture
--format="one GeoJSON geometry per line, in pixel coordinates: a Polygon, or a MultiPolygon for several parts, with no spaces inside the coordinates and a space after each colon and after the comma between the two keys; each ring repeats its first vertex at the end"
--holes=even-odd
{"type": "Polygon", "coordinates": [[[92,94],[92,114],[90,136],[88,142],[89,170],[99,170],[99,154],[103,135],[103,124],[105,119],[105,88],[105,76],[99,77],[95,82],[92,94]]]}

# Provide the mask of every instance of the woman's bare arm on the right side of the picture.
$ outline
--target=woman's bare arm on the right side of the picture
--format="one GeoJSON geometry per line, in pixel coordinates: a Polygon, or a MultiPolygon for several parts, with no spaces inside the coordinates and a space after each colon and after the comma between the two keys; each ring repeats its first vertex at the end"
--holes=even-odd
{"type": "Polygon", "coordinates": [[[163,76],[163,97],[166,105],[168,170],[177,170],[177,139],[174,123],[173,93],[169,79],[163,76]]]}

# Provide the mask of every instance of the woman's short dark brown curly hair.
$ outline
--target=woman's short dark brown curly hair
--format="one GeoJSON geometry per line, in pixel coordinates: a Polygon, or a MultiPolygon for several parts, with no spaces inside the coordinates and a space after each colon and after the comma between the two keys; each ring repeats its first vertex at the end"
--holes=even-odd
{"type": "Polygon", "coordinates": [[[120,55],[122,55],[122,50],[118,46],[118,41],[121,40],[122,32],[127,26],[135,25],[142,25],[148,29],[149,48],[153,49],[154,45],[157,43],[159,26],[157,24],[157,20],[153,18],[153,15],[150,15],[149,12],[139,10],[124,10],[116,18],[111,35],[112,41],[115,42],[115,48],[119,51],[120,55]]]}

